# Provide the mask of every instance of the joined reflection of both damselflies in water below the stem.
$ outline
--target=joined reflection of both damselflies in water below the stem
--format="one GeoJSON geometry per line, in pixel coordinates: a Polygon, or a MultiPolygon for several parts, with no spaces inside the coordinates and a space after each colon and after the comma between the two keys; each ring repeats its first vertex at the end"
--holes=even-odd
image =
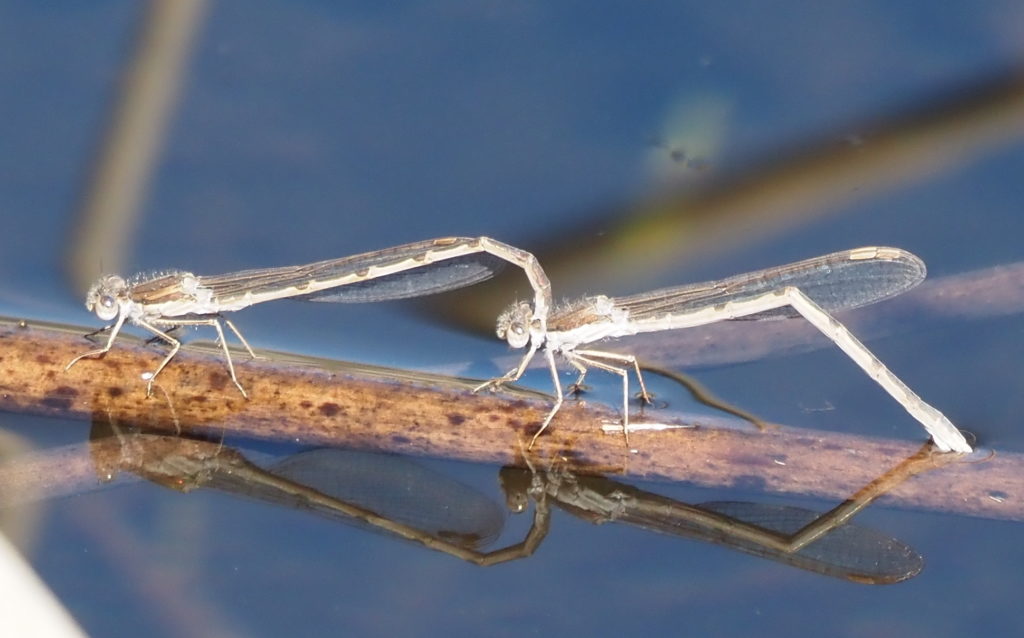
{"type": "MultiPolygon", "coordinates": [[[[550,527],[550,503],[589,522],[622,522],[723,545],[826,576],[887,584],[915,576],[922,558],[878,531],[849,524],[854,514],[906,476],[930,469],[927,456],[891,472],[825,515],[788,506],[709,503],[692,506],[598,476],[564,470],[504,468],[513,511],[535,503],[526,537],[493,551],[478,549],[501,529],[495,506],[475,491],[400,457],[313,450],[262,469],[217,443],[120,434],[119,469],[188,492],[213,487],[398,536],[463,560],[492,565],[532,554],[550,527]]],[[[114,472],[106,467],[104,475],[114,472]]]]}

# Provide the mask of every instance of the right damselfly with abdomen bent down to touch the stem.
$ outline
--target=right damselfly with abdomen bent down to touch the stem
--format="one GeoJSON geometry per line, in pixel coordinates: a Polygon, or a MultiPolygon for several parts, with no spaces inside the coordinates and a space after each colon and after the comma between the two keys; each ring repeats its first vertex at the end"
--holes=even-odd
{"type": "Polygon", "coordinates": [[[622,376],[623,430],[628,437],[630,370],[636,372],[641,396],[648,398],[636,358],[629,354],[584,349],[583,346],[609,338],[729,320],[800,315],[828,337],[921,422],[939,450],[971,452],[964,435],[942,413],[918,396],[845,326],[828,314],[898,295],[924,279],[925,264],[914,255],[898,248],[869,247],[630,297],[587,297],[555,308],[548,317],[547,332],[541,335],[530,330],[536,308],[528,302],[520,302],[499,317],[498,336],[513,347],[528,344],[529,350],[516,369],[480,388],[519,379],[534,353],[543,346],[555,384],[555,405],[534,440],[548,427],[562,405],[556,352],[580,373],[574,387],[583,382],[589,368],[622,376]],[[540,343],[538,336],[542,340],[540,343]]]}

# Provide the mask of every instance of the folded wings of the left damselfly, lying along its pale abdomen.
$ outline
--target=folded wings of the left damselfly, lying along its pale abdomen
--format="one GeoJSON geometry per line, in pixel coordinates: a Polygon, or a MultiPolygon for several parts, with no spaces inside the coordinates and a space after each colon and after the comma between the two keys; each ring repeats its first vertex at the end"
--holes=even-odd
{"type": "Polygon", "coordinates": [[[482,282],[504,266],[498,257],[469,249],[473,242],[428,240],[304,265],[198,279],[227,307],[286,298],[354,303],[421,297],[482,282]]]}

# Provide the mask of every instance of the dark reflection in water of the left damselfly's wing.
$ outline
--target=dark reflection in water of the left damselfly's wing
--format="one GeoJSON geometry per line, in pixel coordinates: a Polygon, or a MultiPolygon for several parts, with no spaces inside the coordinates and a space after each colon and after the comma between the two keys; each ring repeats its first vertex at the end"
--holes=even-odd
{"type": "MultiPolygon", "coordinates": [[[[505,524],[504,512],[482,494],[402,457],[313,450],[288,457],[265,471],[466,548],[495,541],[505,524]]],[[[225,488],[225,478],[218,475],[211,483],[225,488]]],[[[240,484],[231,480],[231,491],[260,500],[366,524],[329,504],[311,503],[301,492],[288,492],[262,481],[246,480],[240,484]]]]}

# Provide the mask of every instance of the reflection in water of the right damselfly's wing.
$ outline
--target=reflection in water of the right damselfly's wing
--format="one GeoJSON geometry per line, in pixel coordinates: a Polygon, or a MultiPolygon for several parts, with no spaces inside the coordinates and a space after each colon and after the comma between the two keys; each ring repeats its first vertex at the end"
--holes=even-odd
{"type": "MultiPolygon", "coordinates": [[[[760,503],[723,501],[702,503],[697,507],[783,537],[796,534],[820,516],[817,512],[797,507],[760,503]]],[[[660,510],[662,514],[665,512],[666,510],[660,510]]],[[[700,538],[801,569],[860,583],[898,583],[913,578],[924,566],[921,555],[904,543],[854,524],[836,527],[799,551],[791,553],[761,544],[749,538],[749,535],[730,535],[727,528],[712,528],[686,517],[634,516],[627,513],[617,520],[666,534],[700,538]]]]}

